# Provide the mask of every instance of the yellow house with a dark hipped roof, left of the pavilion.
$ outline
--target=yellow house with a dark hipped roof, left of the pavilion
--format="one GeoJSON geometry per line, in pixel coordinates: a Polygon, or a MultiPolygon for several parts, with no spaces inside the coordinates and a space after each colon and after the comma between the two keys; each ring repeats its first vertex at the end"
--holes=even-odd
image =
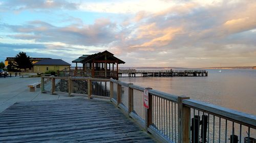
{"type": "Polygon", "coordinates": [[[61,59],[45,59],[33,64],[33,71],[38,73],[45,73],[49,71],[57,70],[61,71],[63,69],[70,68],[70,64],[62,61],[61,59]]]}

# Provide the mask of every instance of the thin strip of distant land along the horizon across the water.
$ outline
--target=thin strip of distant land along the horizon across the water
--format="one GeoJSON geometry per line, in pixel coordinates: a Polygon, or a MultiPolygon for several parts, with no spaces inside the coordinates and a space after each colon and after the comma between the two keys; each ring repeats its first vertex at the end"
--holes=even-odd
{"type": "MultiPolygon", "coordinates": [[[[253,66],[237,67],[208,67],[208,68],[184,68],[184,67],[120,67],[120,69],[253,69],[253,66]]],[[[255,69],[255,68],[254,68],[255,69]]]]}

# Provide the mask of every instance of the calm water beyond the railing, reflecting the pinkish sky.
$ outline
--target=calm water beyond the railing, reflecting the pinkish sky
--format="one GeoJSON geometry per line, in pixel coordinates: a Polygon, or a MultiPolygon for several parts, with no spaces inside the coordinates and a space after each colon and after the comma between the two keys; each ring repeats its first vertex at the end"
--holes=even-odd
{"type": "Polygon", "coordinates": [[[121,77],[119,80],[256,115],[256,70],[207,71],[207,77],[121,77]]]}

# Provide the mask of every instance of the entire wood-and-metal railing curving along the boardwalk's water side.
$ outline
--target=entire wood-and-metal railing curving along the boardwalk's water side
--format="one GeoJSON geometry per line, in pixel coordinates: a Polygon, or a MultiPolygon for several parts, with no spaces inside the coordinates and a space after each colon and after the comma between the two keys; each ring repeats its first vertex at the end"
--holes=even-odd
{"type": "MultiPolygon", "coordinates": [[[[161,142],[253,142],[256,116],[114,79],[42,76],[42,92],[111,100],[161,142]],[[148,91],[148,108],[144,91],[148,91]]],[[[254,143],[254,142],[253,142],[254,143]]]]}

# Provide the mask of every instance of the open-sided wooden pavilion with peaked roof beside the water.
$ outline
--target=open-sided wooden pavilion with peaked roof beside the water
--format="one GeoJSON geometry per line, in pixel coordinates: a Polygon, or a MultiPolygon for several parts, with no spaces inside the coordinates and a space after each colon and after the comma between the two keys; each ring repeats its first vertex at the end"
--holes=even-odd
{"type": "Polygon", "coordinates": [[[72,63],[76,63],[75,76],[78,71],[77,63],[81,63],[83,65],[83,76],[118,79],[118,64],[124,64],[125,62],[105,50],[92,55],[82,55],[72,63]]]}

